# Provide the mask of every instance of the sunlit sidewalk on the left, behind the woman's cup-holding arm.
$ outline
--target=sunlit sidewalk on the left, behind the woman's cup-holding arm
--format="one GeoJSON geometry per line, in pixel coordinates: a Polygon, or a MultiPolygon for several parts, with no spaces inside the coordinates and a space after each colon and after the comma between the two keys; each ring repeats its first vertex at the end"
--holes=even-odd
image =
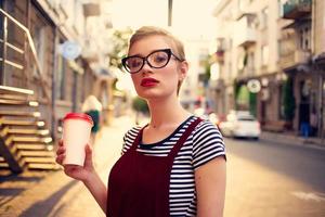
{"type": "MultiPolygon", "coordinates": [[[[103,127],[96,144],[95,162],[102,180],[120,156],[122,136],[133,126],[133,119],[123,116],[109,127],[103,127]]],[[[0,177],[1,217],[88,217],[105,216],[86,187],[58,171],[26,171],[0,177]]]]}

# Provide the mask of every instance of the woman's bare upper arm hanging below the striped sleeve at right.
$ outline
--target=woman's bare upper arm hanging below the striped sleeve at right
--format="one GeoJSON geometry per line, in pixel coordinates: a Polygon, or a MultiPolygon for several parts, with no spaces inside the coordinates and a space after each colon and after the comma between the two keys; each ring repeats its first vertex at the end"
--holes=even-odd
{"type": "Polygon", "coordinates": [[[225,159],[216,157],[195,170],[198,217],[222,217],[225,194],[225,159]]]}

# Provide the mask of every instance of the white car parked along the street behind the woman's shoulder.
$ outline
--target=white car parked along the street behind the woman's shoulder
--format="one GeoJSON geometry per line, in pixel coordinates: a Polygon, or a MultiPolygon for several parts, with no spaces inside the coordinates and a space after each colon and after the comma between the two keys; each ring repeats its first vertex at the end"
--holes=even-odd
{"type": "Polygon", "coordinates": [[[224,137],[252,138],[258,140],[261,133],[260,123],[247,111],[232,111],[226,120],[219,124],[224,137]]]}

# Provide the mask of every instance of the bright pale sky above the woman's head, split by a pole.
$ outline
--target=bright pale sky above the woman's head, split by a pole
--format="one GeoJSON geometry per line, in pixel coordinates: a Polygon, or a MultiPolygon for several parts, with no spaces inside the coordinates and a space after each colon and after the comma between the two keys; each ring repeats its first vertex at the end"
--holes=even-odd
{"type": "MultiPolygon", "coordinates": [[[[213,38],[216,0],[173,0],[172,30],[187,38],[213,38]]],[[[114,28],[167,27],[168,0],[112,0],[114,28]]]]}

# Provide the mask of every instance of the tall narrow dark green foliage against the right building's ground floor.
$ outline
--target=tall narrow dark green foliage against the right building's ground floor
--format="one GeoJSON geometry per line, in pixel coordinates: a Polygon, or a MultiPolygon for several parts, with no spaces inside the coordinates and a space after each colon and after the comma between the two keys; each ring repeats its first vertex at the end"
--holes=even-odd
{"type": "Polygon", "coordinates": [[[291,122],[295,117],[296,99],[294,94],[294,79],[288,77],[283,86],[283,99],[284,117],[286,120],[291,122]]]}

